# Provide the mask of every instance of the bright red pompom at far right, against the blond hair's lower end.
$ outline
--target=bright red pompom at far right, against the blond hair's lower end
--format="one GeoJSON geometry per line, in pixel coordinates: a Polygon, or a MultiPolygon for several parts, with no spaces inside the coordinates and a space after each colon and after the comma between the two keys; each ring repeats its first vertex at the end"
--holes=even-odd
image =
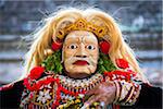
{"type": "Polygon", "coordinates": [[[129,68],[128,62],[126,60],[124,60],[124,59],[116,59],[116,64],[121,69],[129,68]]]}

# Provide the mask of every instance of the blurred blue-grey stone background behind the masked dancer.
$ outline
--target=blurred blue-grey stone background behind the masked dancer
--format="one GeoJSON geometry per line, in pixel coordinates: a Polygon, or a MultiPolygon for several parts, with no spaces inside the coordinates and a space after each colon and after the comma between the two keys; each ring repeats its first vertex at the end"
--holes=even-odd
{"type": "Polygon", "coordinates": [[[162,86],[162,1],[158,0],[0,0],[0,85],[21,76],[27,46],[22,37],[40,25],[59,5],[100,8],[120,24],[145,74],[162,86]]]}

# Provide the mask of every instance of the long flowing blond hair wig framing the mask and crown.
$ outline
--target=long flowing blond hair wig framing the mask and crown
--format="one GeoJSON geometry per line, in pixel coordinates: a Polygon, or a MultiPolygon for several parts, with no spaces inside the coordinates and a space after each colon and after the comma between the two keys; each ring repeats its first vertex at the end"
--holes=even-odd
{"type": "Polygon", "coordinates": [[[138,72],[141,80],[143,82],[146,81],[135,55],[129,46],[124,41],[122,32],[118,28],[115,20],[108,13],[97,9],[82,10],[75,8],[60,10],[53,13],[45,20],[45,25],[34,34],[34,40],[30,49],[26,53],[26,73],[23,75],[23,77],[28,75],[32,68],[40,65],[42,60],[46,59],[48,55],[47,50],[51,49],[51,44],[52,41],[55,41],[59,29],[71,23],[74,23],[78,19],[85,19],[87,22],[91,22],[98,26],[104,25],[108,29],[108,35],[103,36],[102,38],[111,44],[109,57],[113,64],[117,68],[115,60],[123,58],[128,61],[129,65],[135,72],[138,72]]]}

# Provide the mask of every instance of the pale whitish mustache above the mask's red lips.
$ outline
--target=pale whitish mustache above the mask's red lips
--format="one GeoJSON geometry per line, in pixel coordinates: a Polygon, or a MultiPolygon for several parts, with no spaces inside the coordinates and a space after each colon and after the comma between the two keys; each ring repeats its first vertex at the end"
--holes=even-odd
{"type": "Polygon", "coordinates": [[[73,64],[74,62],[76,62],[78,60],[87,61],[88,64],[91,64],[91,65],[96,65],[97,64],[97,61],[93,60],[91,57],[89,57],[89,58],[71,57],[71,58],[65,60],[65,63],[73,64]]]}

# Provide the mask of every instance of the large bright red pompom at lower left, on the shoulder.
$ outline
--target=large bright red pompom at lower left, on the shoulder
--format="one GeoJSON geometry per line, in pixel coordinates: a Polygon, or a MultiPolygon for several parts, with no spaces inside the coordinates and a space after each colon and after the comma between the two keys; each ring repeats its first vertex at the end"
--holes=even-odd
{"type": "Polygon", "coordinates": [[[42,66],[35,66],[32,71],[30,71],[30,74],[29,74],[29,77],[32,80],[37,80],[41,76],[41,74],[43,73],[45,71],[45,68],[42,66]]]}

